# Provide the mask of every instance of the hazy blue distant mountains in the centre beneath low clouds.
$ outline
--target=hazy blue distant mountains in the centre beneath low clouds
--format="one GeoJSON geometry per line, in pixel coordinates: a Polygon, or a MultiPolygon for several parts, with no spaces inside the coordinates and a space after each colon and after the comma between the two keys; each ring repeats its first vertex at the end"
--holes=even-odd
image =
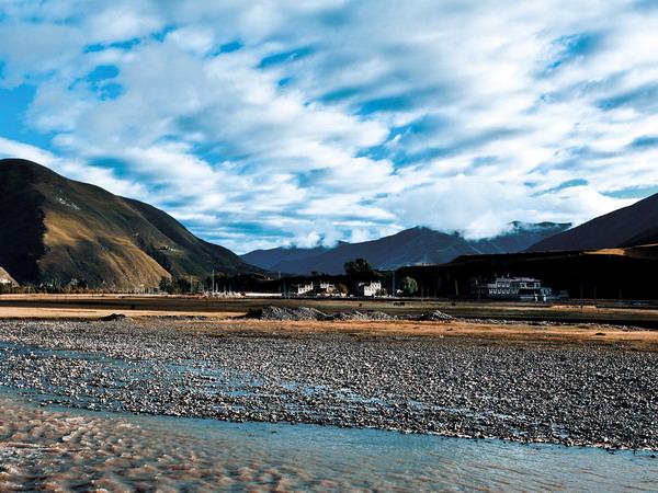
{"type": "Polygon", "coordinates": [[[477,241],[417,227],[378,240],[341,243],[332,249],[256,250],[242,255],[242,259],[263,268],[295,274],[340,274],[345,262],[358,257],[366,259],[374,268],[393,270],[416,264],[443,264],[460,255],[519,252],[536,241],[565,231],[571,225],[515,221],[510,226],[511,229],[503,234],[477,241]]]}

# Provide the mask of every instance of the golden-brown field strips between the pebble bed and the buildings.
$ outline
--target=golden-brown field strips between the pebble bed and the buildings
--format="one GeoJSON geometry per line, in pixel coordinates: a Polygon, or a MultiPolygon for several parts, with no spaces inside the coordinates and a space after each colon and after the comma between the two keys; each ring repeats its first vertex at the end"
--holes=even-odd
{"type": "Polygon", "coordinates": [[[600,347],[658,351],[658,310],[650,308],[595,308],[593,306],[542,303],[476,303],[451,301],[406,301],[393,306],[390,300],[318,300],[318,299],[202,299],[168,296],[90,296],[90,295],[3,295],[0,319],[93,320],[111,313],[124,313],[139,323],[157,323],[152,317],[203,316],[204,320],[182,324],[186,331],[211,333],[263,334],[276,332],[303,336],[313,332],[343,332],[362,336],[460,337],[481,344],[591,344],[600,347]],[[441,310],[455,317],[472,319],[531,320],[517,324],[502,321],[412,322],[412,321],[304,321],[281,322],[231,320],[268,305],[314,307],[325,312],[381,310],[388,314],[419,314],[441,310]],[[549,320],[552,324],[536,324],[549,320]],[[564,323],[560,323],[565,321],[564,323]],[[568,322],[567,322],[568,321],[568,322]],[[637,330],[633,324],[649,330],[637,330]],[[605,326],[614,324],[616,326],[605,326]],[[656,324],[656,325],[654,325],[656,324]],[[626,328],[624,325],[629,325],[626,328]],[[654,325],[654,326],[651,326],[654,325]]]}

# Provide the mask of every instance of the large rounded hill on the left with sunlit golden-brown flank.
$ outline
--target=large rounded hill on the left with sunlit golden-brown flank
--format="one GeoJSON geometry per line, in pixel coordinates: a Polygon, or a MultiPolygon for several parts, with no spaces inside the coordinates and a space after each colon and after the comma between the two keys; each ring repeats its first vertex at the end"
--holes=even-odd
{"type": "Polygon", "coordinates": [[[262,272],[168,214],[21,159],[0,160],[0,267],[21,284],[125,289],[172,274],[262,272]]]}

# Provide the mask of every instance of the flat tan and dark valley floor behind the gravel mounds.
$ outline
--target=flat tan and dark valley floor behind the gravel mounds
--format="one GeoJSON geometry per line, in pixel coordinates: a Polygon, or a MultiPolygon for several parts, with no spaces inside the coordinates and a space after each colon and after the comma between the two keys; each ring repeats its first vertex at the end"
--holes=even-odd
{"type": "Polygon", "coordinates": [[[658,301],[571,300],[519,302],[390,298],[203,298],[167,295],[0,295],[1,319],[86,319],[112,313],[131,317],[245,314],[264,306],[310,307],[326,313],[376,310],[404,318],[440,310],[453,317],[485,321],[599,323],[658,330],[658,301]]]}

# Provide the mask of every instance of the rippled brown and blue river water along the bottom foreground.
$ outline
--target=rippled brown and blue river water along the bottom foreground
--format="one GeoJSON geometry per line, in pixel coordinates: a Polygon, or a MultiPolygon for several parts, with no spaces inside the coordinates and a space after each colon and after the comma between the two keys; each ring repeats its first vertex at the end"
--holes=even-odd
{"type": "Polygon", "coordinates": [[[57,408],[0,395],[0,489],[658,490],[653,452],[57,408]]]}

